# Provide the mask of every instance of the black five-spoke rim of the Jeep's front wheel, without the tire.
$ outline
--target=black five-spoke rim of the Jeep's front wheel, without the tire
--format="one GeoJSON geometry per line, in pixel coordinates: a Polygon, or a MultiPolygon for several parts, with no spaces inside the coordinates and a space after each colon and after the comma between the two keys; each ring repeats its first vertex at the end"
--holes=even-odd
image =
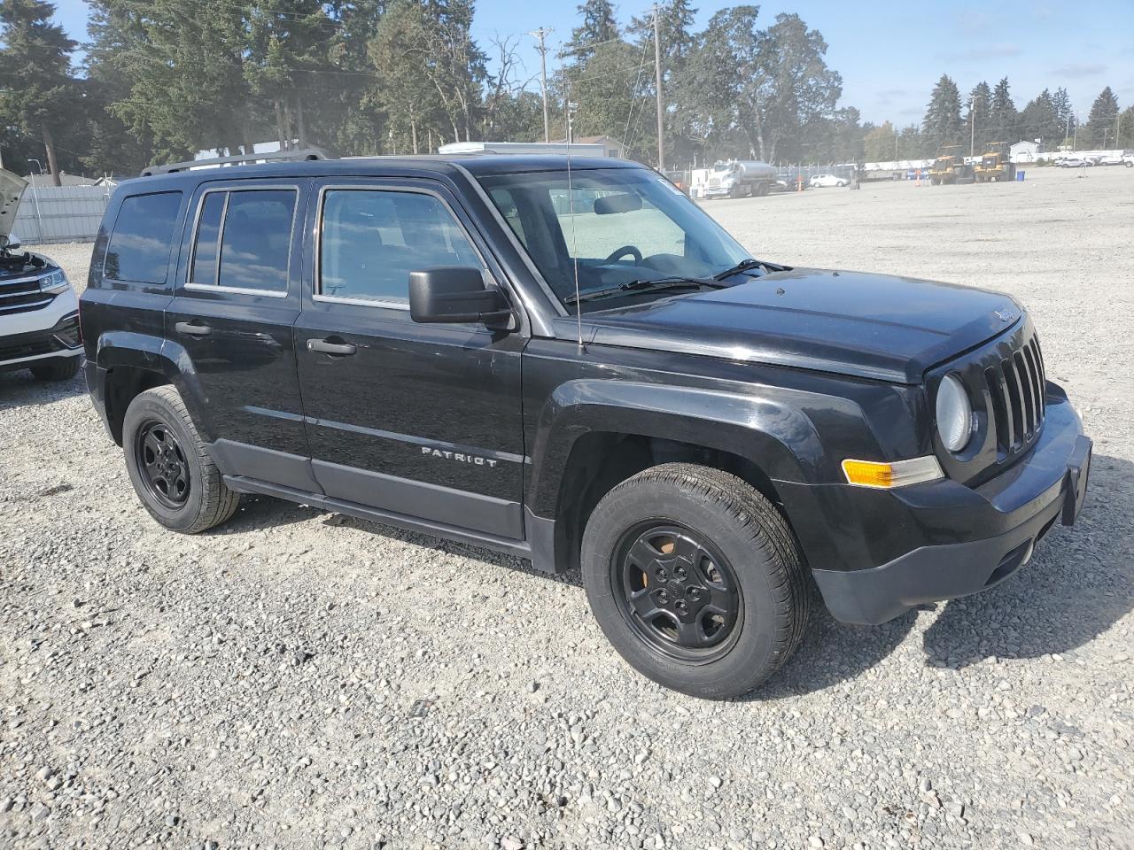
{"type": "Polygon", "coordinates": [[[699,533],[655,522],[634,526],[610,567],[623,617],[657,652],[685,661],[728,652],[741,588],[728,560],[699,533]]]}

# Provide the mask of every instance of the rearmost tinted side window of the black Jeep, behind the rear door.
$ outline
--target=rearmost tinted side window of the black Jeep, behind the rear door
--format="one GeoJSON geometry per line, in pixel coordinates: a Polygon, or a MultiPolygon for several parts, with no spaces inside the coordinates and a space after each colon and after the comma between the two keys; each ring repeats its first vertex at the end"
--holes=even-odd
{"type": "Polygon", "coordinates": [[[107,248],[103,274],[111,280],[164,286],[181,193],[132,195],[122,201],[107,248]]]}

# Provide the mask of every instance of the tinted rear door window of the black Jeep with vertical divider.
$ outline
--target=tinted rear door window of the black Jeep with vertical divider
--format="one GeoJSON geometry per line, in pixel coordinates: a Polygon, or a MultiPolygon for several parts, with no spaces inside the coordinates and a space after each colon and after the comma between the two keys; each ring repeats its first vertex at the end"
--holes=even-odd
{"type": "Polygon", "coordinates": [[[210,192],[201,203],[189,282],[286,292],[294,189],[210,192]]]}

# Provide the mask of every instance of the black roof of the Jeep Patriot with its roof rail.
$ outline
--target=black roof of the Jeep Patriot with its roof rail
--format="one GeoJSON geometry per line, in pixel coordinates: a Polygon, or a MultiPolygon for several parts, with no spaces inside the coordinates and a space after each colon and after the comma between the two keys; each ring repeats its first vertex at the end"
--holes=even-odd
{"type": "MultiPolygon", "coordinates": [[[[573,170],[604,168],[645,168],[637,162],[609,156],[572,156],[573,170]]],[[[124,186],[144,181],[146,186],[197,184],[205,180],[242,180],[256,177],[458,177],[469,172],[489,175],[561,171],[567,156],[542,154],[422,154],[417,156],[359,156],[341,160],[306,160],[262,164],[197,168],[167,175],[125,180],[124,186]]]]}

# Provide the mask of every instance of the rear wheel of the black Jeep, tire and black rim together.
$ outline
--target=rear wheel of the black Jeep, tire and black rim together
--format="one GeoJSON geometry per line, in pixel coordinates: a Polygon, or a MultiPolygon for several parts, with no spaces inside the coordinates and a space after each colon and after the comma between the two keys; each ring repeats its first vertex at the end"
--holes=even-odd
{"type": "Polygon", "coordinates": [[[239,495],[225,485],[172,386],[155,386],[130,401],[122,423],[122,449],[138,499],[171,532],[204,532],[236,512],[239,495]]]}

